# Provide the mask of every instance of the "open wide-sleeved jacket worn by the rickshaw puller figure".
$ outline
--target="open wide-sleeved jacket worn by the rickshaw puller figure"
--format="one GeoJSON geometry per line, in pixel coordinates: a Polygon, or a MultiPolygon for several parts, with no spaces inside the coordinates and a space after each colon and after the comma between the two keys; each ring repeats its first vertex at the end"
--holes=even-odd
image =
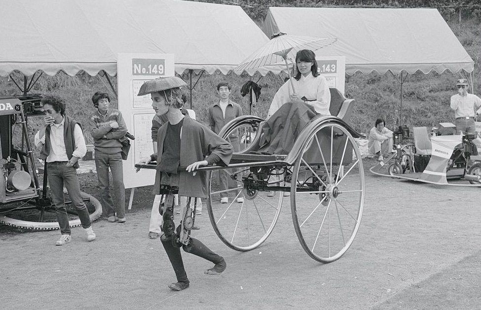
{"type": "MultiPolygon", "coordinates": [[[[167,132],[168,122],[159,128],[157,133],[157,154],[152,157],[160,159],[164,148],[164,139],[167,132]]],[[[203,161],[210,154],[216,154],[221,159],[217,165],[228,166],[232,157],[232,145],[216,135],[206,126],[191,119],[187,115],[181,131],[181,162],[180,165],[187,167],[198,161],[203,161]]],[[[159,162],[155,173],[154,194],[159,195],[162,173],[159,171],[159,162]]],[[[199,171],[194,175],[192,172],[179,171],[179,195],[186,197],[207,198],[207,172],[199,171]]]]}

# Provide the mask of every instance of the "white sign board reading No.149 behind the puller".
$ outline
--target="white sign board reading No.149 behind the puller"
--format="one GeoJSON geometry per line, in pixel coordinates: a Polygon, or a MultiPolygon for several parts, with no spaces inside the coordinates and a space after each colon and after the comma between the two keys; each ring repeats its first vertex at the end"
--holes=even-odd
{"type": "Polygon", "coordinates": [[[151,127],[155,112],[150,95],[138,97],[145,81],[174,76],[174,54],[119,53],[117,60],[118,109],[129,133],[135,136],[126,161],[123,162],[125,188],[152,185],[155,170],[135,172],[135,163],[153,153],[151,127]]]}

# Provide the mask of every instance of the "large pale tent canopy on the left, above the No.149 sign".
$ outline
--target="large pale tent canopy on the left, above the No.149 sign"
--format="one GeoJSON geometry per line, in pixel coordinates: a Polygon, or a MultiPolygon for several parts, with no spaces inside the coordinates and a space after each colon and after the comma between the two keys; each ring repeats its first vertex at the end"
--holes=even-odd
{"type": "Polygon", "coordinates": [[[117,73],[117,53],[174,53],[228,73],[269,39],[240,6],[179,0],[15,0],[0,10],[0,75],[117,73]]]}

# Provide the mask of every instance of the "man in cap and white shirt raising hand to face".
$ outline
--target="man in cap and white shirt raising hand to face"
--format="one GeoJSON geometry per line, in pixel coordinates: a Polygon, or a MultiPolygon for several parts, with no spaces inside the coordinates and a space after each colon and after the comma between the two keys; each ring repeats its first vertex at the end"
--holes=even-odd
{"type": "Polygon", "coordinates": [[[475,117],[481,113],[481,99],[468,93],[468,81],[459,79],[456,82],[458,93],[451,96],[451,109],[455,114],[456,131],[465,134],[476,133],[475,117]]]}

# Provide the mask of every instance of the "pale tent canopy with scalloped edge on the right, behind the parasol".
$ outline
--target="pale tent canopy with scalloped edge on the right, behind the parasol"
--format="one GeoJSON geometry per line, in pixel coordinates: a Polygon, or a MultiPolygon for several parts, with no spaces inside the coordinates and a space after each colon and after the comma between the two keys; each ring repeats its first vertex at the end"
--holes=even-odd
{"type": "Polygon", "coordinates": [[[316,55],[345,56],[347,74],[474,69],[437,9],[270,7],[263,31],[268,37],[278,32],[336,37],[316,55]]]}

